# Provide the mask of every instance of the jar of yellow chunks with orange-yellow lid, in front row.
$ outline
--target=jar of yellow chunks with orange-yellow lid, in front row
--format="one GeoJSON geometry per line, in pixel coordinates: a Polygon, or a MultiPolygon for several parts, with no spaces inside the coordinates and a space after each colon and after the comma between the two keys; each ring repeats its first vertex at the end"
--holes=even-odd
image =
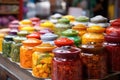
{"type": "Polygon", "coordinates": [[[51,78],[51,68],[53,53],[55,46],[49,43],[42,43],[35,47],[32,55],[32,74],[37,78],[51,78]]]}

